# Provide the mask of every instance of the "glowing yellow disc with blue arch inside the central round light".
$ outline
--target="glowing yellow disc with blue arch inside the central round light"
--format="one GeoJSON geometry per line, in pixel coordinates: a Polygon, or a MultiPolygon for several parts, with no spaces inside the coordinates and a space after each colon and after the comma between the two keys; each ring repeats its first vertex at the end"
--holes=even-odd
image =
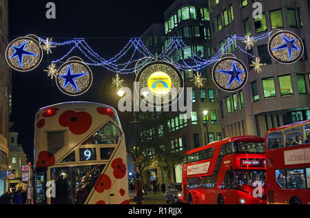
{"type": "Polygon", "coordinates": [[[164,72],[155,72],[147,80],[147,87],[155,95],[167,94],[172,86],[172,80],[168,74],[164,72]]]}

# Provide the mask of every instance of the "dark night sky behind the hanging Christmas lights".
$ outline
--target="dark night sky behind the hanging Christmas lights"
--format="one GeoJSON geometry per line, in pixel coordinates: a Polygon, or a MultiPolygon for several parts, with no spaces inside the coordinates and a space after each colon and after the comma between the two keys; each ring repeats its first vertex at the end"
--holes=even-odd
{"type": "MultiPolygon", "coordinates": [[[[52,1],[52,0],[50,0],[52,1]]],[[[28,34],[52,38],[61,42],[73,38],[85,38],[95,52],[103,58],[111,58],[125,46],[130,37],[138,37],[152,23],[163,23],[163,12],[174,0],[160,1],[52,1],[56,4],[56,19],[46,19],[43,0],[9,1],[9,41],[28,34]],[[88,39],[87,39],[88,38],[88,39]],[[101,39],[94,39],[101,38],[101,39]]],[[[47,76],[50,61],[68,52],[70,47],[52,49],[31,72],[12,70],[12,114],[14,131],[19,132],[19,144],[25,153],[33,153],[34,115],[40,107],[70,100],[87,100],[113,105],[115,94],[111,93],[111,78],[115,74],[100,67],[90,66],[94,81],[87,93],[65,96],[47,76]]],[[[80,53],[75,55],[83,58],[80,53]]],[[[59,66],[58,66],[59,67],[59,66]]],[[[126,77],[124,77],[126,79],[126,77]]]]}

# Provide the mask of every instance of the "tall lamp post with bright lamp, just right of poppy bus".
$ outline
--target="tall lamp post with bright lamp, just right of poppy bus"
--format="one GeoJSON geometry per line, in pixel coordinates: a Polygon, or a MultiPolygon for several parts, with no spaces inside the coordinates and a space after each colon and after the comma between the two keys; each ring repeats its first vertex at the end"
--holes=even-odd
{"type": "MultiPolygon", "coordinates": [[[[116,94],[118,96],[123,97],[125,94],[125,91],[119,89],[116,94]]],[[[134,93],[132,93],[132,104],[134,104],[134,93]]],[[[134,120],[132,123],[134,123],[134,151],[135,151],[135,170],[136,170],[136,204],[142,204],[142,179],[140,175],[140,170],[139,170],[139,164],[138,164],[138,147],[137,147],[137,123],[138,121],[136,120],[136,111],[133,110],[134,113],[134,120]]]]}

